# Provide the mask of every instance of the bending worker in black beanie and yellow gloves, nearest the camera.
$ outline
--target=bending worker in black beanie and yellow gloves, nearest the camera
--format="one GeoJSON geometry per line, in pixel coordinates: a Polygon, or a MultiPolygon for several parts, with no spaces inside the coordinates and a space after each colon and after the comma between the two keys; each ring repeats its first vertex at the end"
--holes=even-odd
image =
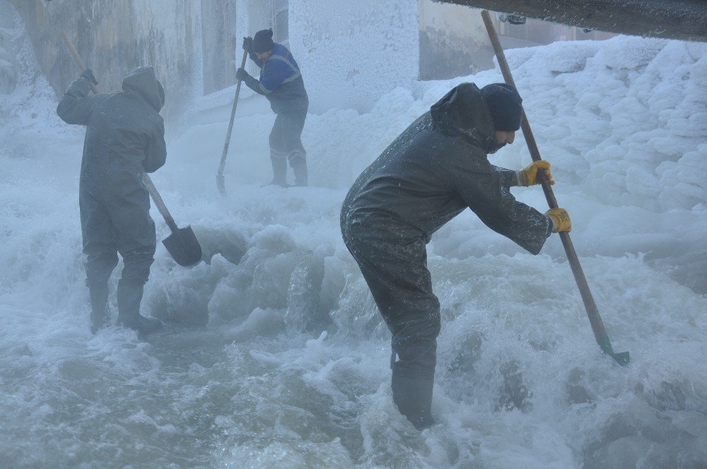
{"type": "Polygon", "coordinates": [[[363,171],[341,208],[346,247],[392,333],[393,400],[419,429],[433,424],[440,332],[440,303],[426,266],[433,233],[467,207],[532,254],[551,232],[571,228],[566,210],[544,215],[510,194],[511,186],[538,184],[539,170],[551,180],[548,162],[517,172],[486,157],[513,143],[520,103],[505,83],[481,90],[458,85],[363,171]]]}

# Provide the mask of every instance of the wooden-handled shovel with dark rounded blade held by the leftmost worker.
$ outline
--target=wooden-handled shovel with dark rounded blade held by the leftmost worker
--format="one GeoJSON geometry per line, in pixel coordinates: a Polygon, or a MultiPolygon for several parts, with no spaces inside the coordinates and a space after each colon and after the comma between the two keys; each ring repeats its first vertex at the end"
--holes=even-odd
{"type": "MultiPolygon", "coordinates": [[[[83,60],[81,60],[81,57],[79,57],[78,52],[76,52],[76,47],[74,47],[74,44],[71,42],[69,36],[67,36],[66,32],[64,31],[62,31],[62,38],[64,39],[64,42],[66,42],[66,47],[69,47],[69,52],[71,52],[71,55],[74,56],[76,64],[78,64],[78,68],[80,68],[82,72],[86,70],[86,66],[83,65],[83,60]]],[[[90,85],[90,88],[91,90],[93,90],[94,94],[98,93],[98,87],[96,87],[93,82],[89,80],[88,84],[90,85]]],[[[199,245],[199,241],[197,240],[196,235],[194,235],[192,227],[177,227],[174,218],[172,218],[170,211],[167,210],[165,203],[162,201],[160,193],[155,188],[155,185],[152,184],[152,179],[150,179],[147,173],[142,174],[142,182],[143,184],[145,184],[147,190],[150,191],[150,195],[152,196],[153,202],[157,206],[157,209],[160,210],[162,216],[165,218],[165,222],[167,222],[167,225],[170,227],[170,230],[172,230],[172,234],[163,239],[162,244],[165,245],[167,251],[172,255],[173,259],[180,266],[195,266],[197,263],[199,263],[199,261],[201,261],[201,245],[199,245]]]]}

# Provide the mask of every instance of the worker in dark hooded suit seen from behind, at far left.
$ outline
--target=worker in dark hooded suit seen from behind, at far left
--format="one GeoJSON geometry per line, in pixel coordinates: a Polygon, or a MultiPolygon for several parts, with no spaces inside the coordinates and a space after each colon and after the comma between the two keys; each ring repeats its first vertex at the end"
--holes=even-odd
{"type": "Polygon", "coordinates": [[[143,286],[155,254],[155,223],[144,172],[165,164],[165,127],[159,112],[165,92],[152,67],[135,69],[122,91],[89,95],[87,69],[62,97],[57,114],[67,124],[86,126],[78,204],[81,208],[91,331],[107,325],[108,278],[123,259],[118,282],[118,323],[139,333],[162,323],[140,314],[143,286]]]}

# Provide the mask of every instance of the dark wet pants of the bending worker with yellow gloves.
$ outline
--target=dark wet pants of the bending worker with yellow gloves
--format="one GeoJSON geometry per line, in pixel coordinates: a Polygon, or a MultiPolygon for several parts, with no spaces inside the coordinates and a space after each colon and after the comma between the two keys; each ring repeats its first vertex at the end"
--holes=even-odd
{"type": "Polygon", "coordinates": [[[365,223],[344,227],[351,251],[392,333],[397,372],[433,378],[440,303],[432,292],[423,237],[401,237],[365,223]]]}

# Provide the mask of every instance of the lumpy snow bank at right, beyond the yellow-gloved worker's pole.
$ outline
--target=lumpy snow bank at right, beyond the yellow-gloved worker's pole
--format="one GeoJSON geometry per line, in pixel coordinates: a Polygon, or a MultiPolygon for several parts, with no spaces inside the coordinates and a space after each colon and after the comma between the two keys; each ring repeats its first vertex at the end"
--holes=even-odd
{"type": "Polygon", "coordinates": [[[521,91],[536,88],[524,93],[525,105],[548,158],[602,203],[663,211],[703,202],[704,44],[617,38],[580,53],[558,46],[511,64],[521,91]]]}

